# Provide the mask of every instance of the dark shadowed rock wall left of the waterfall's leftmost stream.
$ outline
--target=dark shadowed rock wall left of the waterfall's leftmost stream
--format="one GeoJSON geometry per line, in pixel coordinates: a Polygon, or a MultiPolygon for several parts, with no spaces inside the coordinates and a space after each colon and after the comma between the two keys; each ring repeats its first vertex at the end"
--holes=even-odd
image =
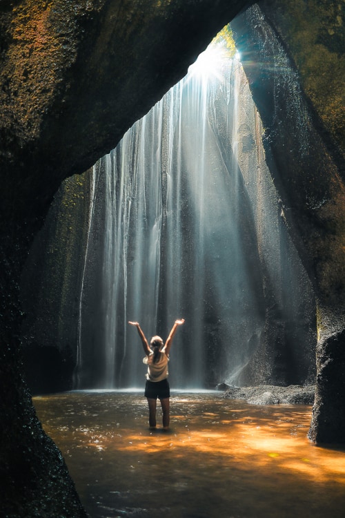
{"type": "Polygon", "coordinates": [[[89,170],[61,184],[21,276],[23,365],[33,394],[72,389],[91,177],[89,170]]]}

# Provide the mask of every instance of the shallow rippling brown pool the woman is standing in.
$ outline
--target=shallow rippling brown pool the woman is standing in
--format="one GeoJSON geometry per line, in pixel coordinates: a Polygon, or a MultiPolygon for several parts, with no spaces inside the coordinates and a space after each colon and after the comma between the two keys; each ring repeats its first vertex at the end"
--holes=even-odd
{"type": "Polygon", "coordinates": [[[34,398],[91,518],[345,516],[345,450],[309,443],[311,407],[173,392],[170,432],[152,432],[146,405],[139,392],[34,398]]]}

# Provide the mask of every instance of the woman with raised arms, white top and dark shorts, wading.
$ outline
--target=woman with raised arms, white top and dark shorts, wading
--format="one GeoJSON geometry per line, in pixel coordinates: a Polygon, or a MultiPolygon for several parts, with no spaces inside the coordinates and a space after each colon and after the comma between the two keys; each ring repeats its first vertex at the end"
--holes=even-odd
{"type": "Polygon", "coordinates": [[[184,318],[175,320],[170,334],[166,339],[166,343],[160,336],[152,336],[150,345],[141,330],[138,322],[128,322],[130,325],[137,327],[137,332],[141,338],[141,343],[146,354],[143,362],[148,365],[146,374],[145,396],[148,400],[149,417],[148,422],[150,428],[156,428],[156,408],[157,398],[161,401],[161,410],[163,411],[163,429],[168,430],[170,423],[170,387],[168,383],[168,361],[169,352],[172,345],[172,338],[175,335],[178,325],[184,323],[184,318]]]}

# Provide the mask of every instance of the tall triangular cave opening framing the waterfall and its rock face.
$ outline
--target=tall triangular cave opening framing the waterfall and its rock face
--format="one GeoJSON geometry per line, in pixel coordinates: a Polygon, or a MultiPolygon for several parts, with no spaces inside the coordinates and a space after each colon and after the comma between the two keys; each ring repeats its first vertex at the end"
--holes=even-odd
{"type": "Polygon", "coordinates": [[[51,392],[43,343],[60,354],[57,390],[137,387],[144,372],[127,320],[165,336],[178,316],[176,387],[313,383],[315,298],[263,136],[228,25],[114,151],[66,180],[25,273],[37,293],[26,321],[34,392],[51,392]]]}

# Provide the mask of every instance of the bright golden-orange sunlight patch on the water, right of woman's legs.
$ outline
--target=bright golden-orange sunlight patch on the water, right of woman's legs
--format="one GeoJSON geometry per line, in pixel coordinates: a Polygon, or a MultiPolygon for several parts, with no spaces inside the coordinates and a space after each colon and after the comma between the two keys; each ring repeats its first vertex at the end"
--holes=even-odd
{"type": "MultiPolygon", "coordinates": [[[[206,412],[202,418],[215,418],[217,414],[206,412]]],[[[309,412],[306,412],[306,423],[302,428],[302,433],[295,434],[290,431],[291,425],[286,422],[272,424],[252,425],[250,420],[244,423],[234,421],[215,421],[215,428],[199,430],[200,416],[195,418],[195,422],[189,422],[188,428],[179,428],[178,431],[168,433],[160,432],[139,432],[133,433],[126,430],[122,434],[115,434],[110,437],[100,437],[97,439],[100,444],[89,445],[96,448],[110,449],[123,452],[156,452],[157,450],[170,449],[175,451],[175,455],[193,457],[197,454],[205,454],[215,458],[231,457],[232,463],[237,464],[241,469],[244,463],[250,463],[252,469],[269,470],[275,465],[279,469],[288,472],[308,474],[317,481],[339,481],[345,482],[345,458],[344,454],[337,458],[332,450],[320,450],[314,445],[310,445],[306,439],[306,430],[309,423],[309,412]],[[223,425],[219,430],[219,425],[223,425]],[[304,449],[309,450],[309,457],[302,457],[299,453],[304,449]],[[188,450],[188,452],[186,452],[188,450]]],[[[186,419],[184,415],[174,415],[173,421],[176,423],[186,419]]]]}

